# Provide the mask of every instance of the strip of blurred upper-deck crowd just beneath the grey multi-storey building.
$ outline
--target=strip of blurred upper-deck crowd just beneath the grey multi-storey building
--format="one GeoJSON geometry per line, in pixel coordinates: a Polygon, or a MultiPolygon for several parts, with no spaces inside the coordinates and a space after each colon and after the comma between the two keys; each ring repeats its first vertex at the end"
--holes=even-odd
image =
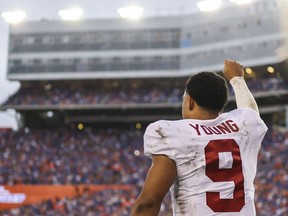
{"type": "MultiPolygon", "coordinates": [[[[57,84],[22,86],[5,105],[98,105],[180,103],[186,80],[157,83],[146,81],[96,82],[94,84],[57,84]]],[[[287,89],[280,78],[247,81],[253,93],[287,89]]],[[[233,91],[230,91],[233,94],[233,91]]]]}

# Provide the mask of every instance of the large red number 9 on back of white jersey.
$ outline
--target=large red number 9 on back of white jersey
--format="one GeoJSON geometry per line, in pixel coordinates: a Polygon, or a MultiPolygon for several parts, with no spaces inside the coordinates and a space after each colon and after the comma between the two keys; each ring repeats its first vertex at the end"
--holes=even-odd
{"type": "Polygon", "coordinates": [[[245,205],[244,177],[240,149],[235,140],[212,140],[205,147],[206,175],[213,182],[233,181],[233,199],[220,199],[219,192],[206,192],[207,205],[214,212],[239,212],[245,205]],[[230,169],[219,169],[220,152],[231,152],[233,164],[230,169]]]}

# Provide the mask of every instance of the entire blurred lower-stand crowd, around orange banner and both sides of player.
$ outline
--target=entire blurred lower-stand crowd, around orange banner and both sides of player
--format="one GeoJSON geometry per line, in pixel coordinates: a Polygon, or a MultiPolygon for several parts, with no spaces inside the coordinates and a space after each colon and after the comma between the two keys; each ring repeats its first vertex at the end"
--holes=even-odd
{"type": "MultiPolygon", "coordinates": [[[[62,128],[0,131],[0,184],[127,184],[133,189],[84,193],[45,201],[1,215],[128,216],[143,185],[150,159],[143,155],[142,130],[62,128]]],[[[256,177],[257,215],[288,212],[288,131],[266,135],[256,177]]],[[[169,197],[161,215],[170,215],[169,197]]]]}

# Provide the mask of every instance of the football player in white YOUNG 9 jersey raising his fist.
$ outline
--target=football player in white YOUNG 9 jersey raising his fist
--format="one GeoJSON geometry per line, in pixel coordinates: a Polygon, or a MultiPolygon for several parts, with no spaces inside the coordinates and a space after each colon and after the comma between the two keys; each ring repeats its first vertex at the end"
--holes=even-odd
{"type": "Polygon", "coordinates": [[[243,66],[225,60],[223,75],[233,87],[237,109],[223,112],[226,80],[200,72],[186,83],[183,119],[147,127],[144,153],[152,165],[132,216],[158,215],[169,189],[173,215],[256,215],[253,181],[267,127],[243,66]]]}

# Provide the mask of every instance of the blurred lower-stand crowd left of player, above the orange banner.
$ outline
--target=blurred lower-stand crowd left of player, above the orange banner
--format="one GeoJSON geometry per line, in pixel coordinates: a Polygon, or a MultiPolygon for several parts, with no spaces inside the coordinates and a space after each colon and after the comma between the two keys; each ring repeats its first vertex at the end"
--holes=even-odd
{"type": "Polygon", "coordinates": [[[0,184],[141,184],[140,131],[26,130],[0,135],[0,184]],[[137,151],[138,150],[138,151],[137,151]],[[137,153],[136,153],[137,155],[137,153]],[[137,159],[136,159],[137,158],[137,159]],[[133,161],[133,162],[131,162],[133,161]]]}

